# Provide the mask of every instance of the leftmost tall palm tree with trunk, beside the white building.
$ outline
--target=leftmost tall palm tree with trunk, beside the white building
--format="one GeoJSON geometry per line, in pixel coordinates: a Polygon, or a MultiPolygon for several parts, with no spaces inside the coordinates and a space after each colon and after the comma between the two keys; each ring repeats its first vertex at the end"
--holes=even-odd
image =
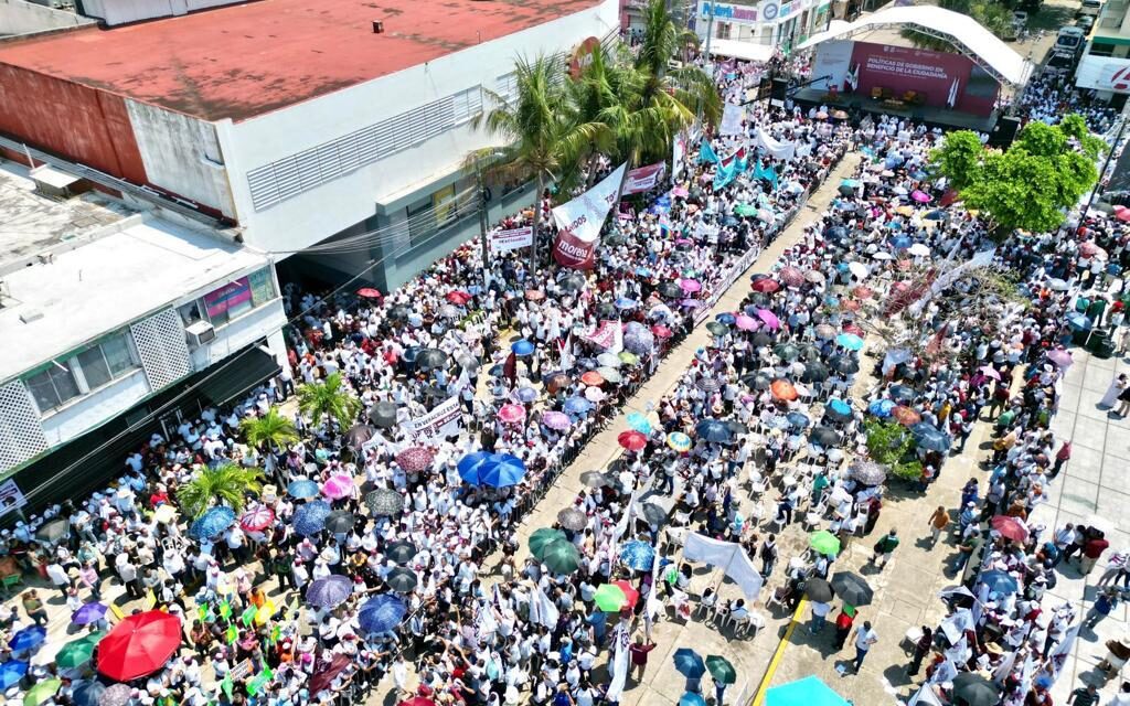
{"type": "Polygon", "coordinates": [[[537,195],[533,207],[533,246],[530,269],[537,270],[538,226],[541,220],[541,194],[547,181],[572,169],[596,146],[605,143],[607,130],[592,122],[574,122],[565,105],[560,69],[545,56],[533,61],[519,59],[515,66],[516,94],[506,98],[487,91],[494,106],[479,113],[471,124],[506,140],[503,147],[489,147],[469,157],[471,163],[486,157],[492,171],[522,180],[533,178],[537,195]]]}

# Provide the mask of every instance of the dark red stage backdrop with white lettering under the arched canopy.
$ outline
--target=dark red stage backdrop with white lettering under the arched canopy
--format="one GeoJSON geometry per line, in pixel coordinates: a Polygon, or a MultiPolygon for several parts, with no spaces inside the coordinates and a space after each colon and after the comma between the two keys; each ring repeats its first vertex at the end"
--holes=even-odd
{"type": "Polygon", "coordinates": [[[914,90],[924,94],[925,105],[981,116],[992,113],[1000,89],[991,76],[962,54],[855,42],[849,69],[857,67],[857,94],[870,95],[872,88],[886,88],[895,97],[902,97],[905,91],[914,90]],[[955,81],[957,101],[949,106],[955,81]]]}

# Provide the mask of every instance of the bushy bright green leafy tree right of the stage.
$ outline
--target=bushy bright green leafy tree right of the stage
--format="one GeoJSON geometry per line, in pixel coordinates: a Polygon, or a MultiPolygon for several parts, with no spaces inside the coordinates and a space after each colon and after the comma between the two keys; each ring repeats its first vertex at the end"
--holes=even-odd
{"type": "Polygon", "coordinates": [[[974,142],[980,140],[972,132],[950,132],[930,159],[965,207],[989,220],[996,239],[1016,229],[1059,228],[1067,211],[1098,180],[1095,162],[1105,149],[1079,115],[1068,115],[1058,125],[1032,121],[1007,151],[974,154],[974,142]]]}

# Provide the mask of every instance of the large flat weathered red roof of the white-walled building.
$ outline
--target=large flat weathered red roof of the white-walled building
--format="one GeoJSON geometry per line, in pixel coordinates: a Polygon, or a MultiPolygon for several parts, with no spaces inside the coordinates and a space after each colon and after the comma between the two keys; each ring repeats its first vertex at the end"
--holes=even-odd
{"type": "Polygon", "coordinates": [[[206,120],[244,120],[599,1],[261,0],[0,44],[0,64],[206,120]],[[383,34],[373,20],[384,21],[383,34]]]}

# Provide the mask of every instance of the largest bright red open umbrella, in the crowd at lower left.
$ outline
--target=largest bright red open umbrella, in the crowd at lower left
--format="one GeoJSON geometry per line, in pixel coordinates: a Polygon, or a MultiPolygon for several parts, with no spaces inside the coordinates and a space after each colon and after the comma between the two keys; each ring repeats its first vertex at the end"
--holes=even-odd
{"type": "Polygon", "coordinates": [[[151,674],[181,646],[181,620],[159,610],[129,616],[98,643],[98,671],[114,681],[151,674]]]}

